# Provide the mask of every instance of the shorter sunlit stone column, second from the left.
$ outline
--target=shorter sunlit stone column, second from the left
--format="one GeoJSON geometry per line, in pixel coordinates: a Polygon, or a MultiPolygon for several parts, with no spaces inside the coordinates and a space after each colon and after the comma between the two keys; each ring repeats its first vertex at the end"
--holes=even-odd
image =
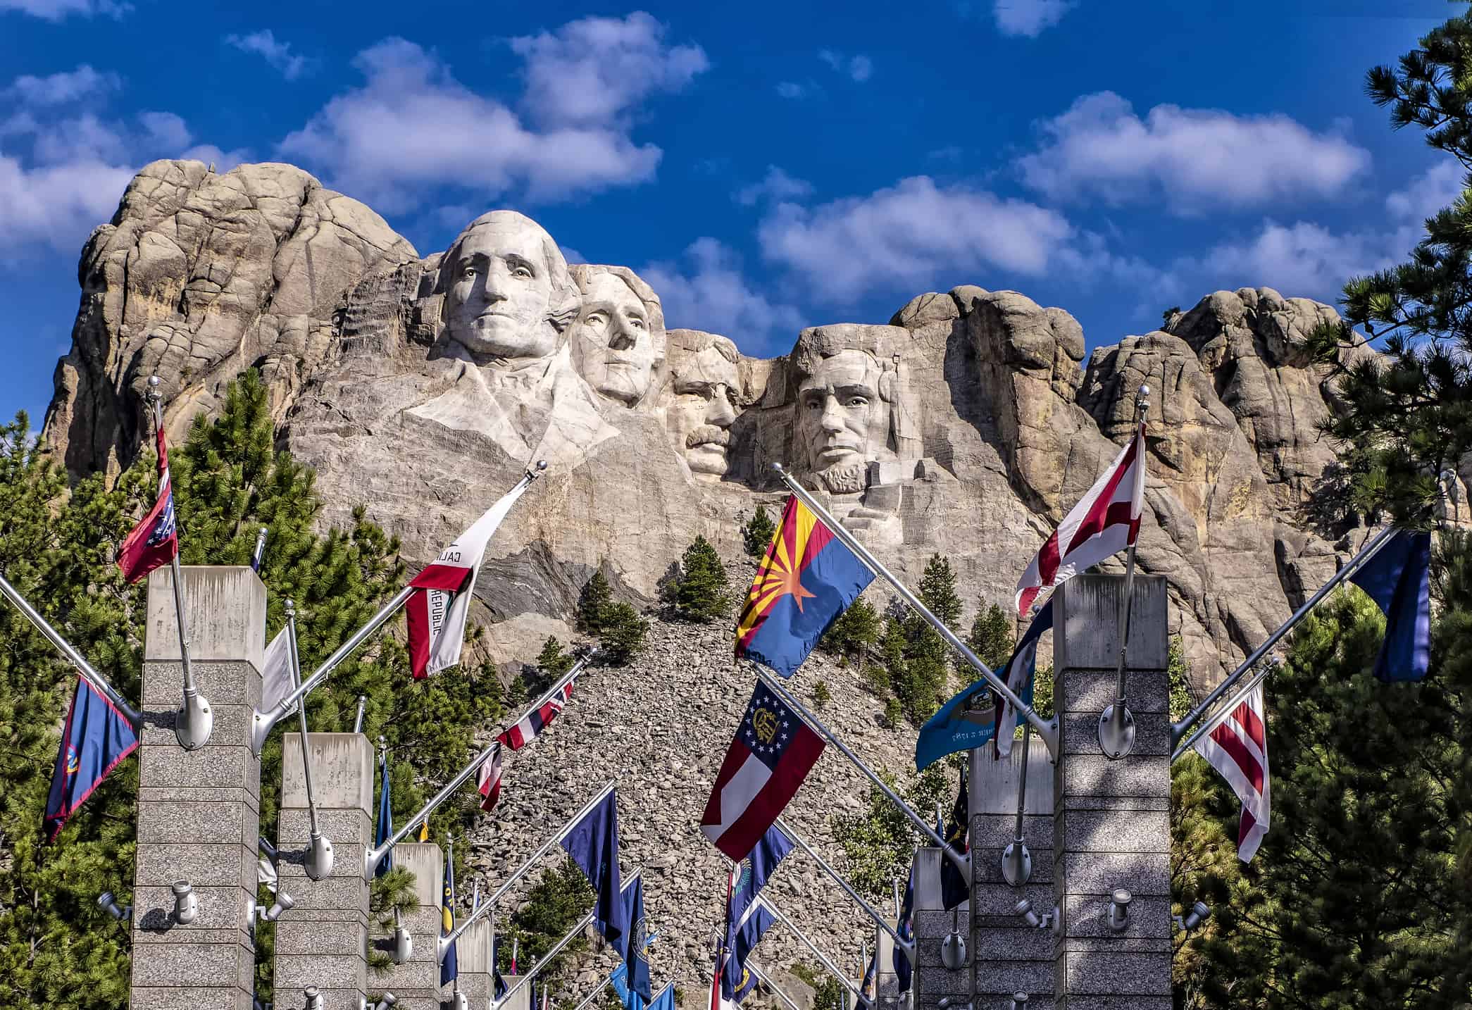
{"type": "MultiPolygon", "coordinates": [[[[293,717],[294,720],[294,717],[293,717]]],[[[281,816],[277,826],[280,886],[296,905],[277,919],[275,1004],[300,1007],[315,985],[325,1010],[358,1010],[368,992],[368,882],[364,851],[372,842],[372,745],[362,733],[308,733],[316,822],[333,842],[333,873],[306,876],[312,836],[302,774],[302,735],[281,736],[281,816]]]]}

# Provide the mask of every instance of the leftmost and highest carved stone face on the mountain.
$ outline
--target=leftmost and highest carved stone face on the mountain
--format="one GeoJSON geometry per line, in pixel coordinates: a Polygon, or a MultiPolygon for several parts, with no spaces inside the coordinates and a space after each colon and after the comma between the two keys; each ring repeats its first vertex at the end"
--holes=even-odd
{"type": "Polygon", "coordinates": [[[548,321],[551,239],[520,213],[495,213],[473,224],[450,247],[455,262],[445,289],[449,339],[475,358],[545,358],[556,350],[548,321]]]}

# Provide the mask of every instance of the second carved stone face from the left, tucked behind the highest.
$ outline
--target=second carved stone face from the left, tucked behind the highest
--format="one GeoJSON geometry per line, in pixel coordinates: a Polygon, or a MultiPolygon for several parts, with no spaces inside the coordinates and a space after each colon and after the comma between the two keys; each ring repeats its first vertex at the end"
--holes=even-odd
{"type": "Polygon", "coordinates": [[[615,274],[583,284],[583,308],[573,324],[573,364],[587,384],[633,405],[649,392],[655,361],[649,311],[615,274]]]}

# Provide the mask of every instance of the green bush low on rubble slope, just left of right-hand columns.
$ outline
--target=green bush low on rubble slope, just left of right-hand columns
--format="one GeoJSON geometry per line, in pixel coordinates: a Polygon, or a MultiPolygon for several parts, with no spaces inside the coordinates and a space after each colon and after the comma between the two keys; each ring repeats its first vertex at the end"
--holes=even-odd
{"type": "MultiPolygon", "coordinates": [[[[921,811],[933,810],[936,802],[955,792],[941,764],[927,767],[904,789],[896,786],[891,773],[879,774],[885,785],[921,811]]],[[[908,876],[914,847],[921,844],[910,819],[877,786],[870,786],[864,810],[833,814],[832,823],[833,838],[843,848],[849,883],[874,901],[888,900],[894,879],[908,876]]]]}

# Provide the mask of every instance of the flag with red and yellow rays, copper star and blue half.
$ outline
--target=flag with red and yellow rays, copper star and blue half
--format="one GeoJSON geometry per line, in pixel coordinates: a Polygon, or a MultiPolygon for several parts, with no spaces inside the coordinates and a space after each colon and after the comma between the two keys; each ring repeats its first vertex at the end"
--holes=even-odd
{"type": "Polygon", "coordinates": [[[789,495],[736,624],[736,657],[790,677],[873,579],[833,530],[789,495]]]}

